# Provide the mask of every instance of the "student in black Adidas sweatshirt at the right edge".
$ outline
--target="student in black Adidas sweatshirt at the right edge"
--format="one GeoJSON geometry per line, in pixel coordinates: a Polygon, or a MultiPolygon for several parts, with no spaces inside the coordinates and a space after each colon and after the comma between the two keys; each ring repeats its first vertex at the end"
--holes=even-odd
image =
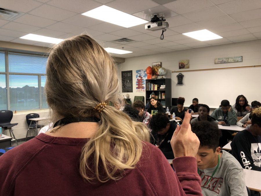
{"type": "Polygon", "coordinates": [[[254,109],[251,116],[252,125],[235,135],[231,149],[243,168],[261,171],[261,107],[254,109]]]}

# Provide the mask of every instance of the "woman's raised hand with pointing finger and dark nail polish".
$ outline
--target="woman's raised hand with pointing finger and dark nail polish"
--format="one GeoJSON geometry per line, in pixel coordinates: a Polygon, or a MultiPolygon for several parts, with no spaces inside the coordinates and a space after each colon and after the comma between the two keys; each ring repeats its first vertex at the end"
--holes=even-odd
{"type": "Polygon", "coordinates": [[[171,147],[175,158],[182,156],[195,157],[197,154],[200,141],[196,134],[191,131],[190,119],[191,109],[186,112],[182,125],[177,126],[172,136],[171,147]]]}

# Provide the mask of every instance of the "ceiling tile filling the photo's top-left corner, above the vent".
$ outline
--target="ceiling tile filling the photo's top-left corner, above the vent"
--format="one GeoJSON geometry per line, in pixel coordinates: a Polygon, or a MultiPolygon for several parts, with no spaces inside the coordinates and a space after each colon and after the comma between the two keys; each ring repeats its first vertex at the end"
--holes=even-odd
{"type": "Polygon", "coordinates": [[[42,5],[42,3],[33,0],[1,0],[0,6],[1,8],[26,13],[40,5],[42,5]]]}

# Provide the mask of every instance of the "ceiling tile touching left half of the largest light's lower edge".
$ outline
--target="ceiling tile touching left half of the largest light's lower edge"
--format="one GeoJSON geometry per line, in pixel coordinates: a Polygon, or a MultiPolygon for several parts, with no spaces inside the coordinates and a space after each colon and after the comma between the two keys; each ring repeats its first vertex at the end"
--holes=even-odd
{"type": "Polygon", "coordinates": [[[88,26],[93,26],[96,24],[104,23],[104,21],[97,20],[97,19],[94,19],[94,18],[91,18],[88,16],[84,16],[81,14],[77,14],[73,17],[62,20],[61,22],[73,24],[73,25],[77,25],[77,26],[82,26],[82,27],[88,27],[88,26]]]}

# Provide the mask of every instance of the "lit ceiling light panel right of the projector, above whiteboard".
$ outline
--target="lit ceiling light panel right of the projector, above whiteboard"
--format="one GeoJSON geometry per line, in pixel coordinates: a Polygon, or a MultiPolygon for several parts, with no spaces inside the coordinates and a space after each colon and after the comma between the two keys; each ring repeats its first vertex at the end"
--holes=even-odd
{"type": "Polygon", "coordinates": [[[212,39],[220,39],[223,38],[215,33],[212,33],[209,30],[203,29],[203,30],[197,30],[197,31],[192,31],[189,33],[182,33],[183,35],[192,37],[194,39],[200,40],[200,41],[207,41],[207,40],[212,40],[212,39]]]}

